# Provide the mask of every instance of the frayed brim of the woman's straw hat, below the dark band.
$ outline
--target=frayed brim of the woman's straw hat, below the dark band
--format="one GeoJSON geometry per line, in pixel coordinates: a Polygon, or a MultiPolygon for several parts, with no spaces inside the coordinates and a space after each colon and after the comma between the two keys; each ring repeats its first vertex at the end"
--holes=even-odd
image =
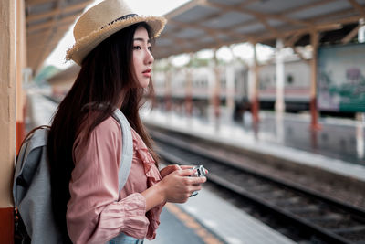
{"type": "Polygon", "coordinates": [[[122,28],[141,22],[146,22],[151,27],[151,36],[155,38],[160,36],[165,27],[166,18],[162,16],[133,16],[123,21],[116,21],[107,27],[95,30],[88,36],[79,39],[72,48],[68,49],[66,60],[72,59],[81,66],[82,60],[103,40],[120,31],[122,28]]]}

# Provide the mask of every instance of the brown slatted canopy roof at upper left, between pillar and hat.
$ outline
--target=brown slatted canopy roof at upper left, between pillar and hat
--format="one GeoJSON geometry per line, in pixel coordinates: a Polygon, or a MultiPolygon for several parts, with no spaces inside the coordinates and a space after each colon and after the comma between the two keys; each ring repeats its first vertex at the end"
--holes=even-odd
{"type": "MultiPolygon", "coordinates": [[[[27,66],[34,71],[91,0],[26,0],[27,66]]],[[[66,52],[66,51],[65,51],[66,52]]]]}

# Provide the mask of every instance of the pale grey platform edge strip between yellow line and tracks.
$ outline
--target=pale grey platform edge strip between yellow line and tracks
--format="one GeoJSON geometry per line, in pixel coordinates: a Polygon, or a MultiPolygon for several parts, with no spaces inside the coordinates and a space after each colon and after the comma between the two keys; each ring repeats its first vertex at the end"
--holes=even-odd
{"type": "Polygon", "coordinates": [[[202,189],[186,204],[180,205],[227,243],[294,243],[226,199],[202,189]]]}

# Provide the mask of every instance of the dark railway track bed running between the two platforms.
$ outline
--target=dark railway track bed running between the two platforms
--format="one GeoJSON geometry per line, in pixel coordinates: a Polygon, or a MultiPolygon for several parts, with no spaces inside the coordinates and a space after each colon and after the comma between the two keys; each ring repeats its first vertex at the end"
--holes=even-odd
{"type": "Polygon", "coordinates": [[[288,225],[327,243],[365,243],[365,211],[303,186],[256,173],[229,159],[217,158],[165,133],[151,132],[164,161],[203,164],[209,181],[262,207],[288,225]],[[163,150],[161,150],[163,149],[163,150]]]}

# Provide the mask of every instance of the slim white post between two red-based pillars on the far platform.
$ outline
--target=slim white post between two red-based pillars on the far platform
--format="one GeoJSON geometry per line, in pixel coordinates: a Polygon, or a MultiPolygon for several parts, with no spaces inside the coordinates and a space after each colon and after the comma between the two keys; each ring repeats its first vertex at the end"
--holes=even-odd
{"type": "Polygon", "coordinates": [[[276,40],[276,101],[275,101],[275,110],[276,112],[283,113],[285,111],[285,102],[284,102],[284,80],[285,80],[285,72],[284,72],[284,57],[283,51],[284,48],[283,40],[276,40]]]}

